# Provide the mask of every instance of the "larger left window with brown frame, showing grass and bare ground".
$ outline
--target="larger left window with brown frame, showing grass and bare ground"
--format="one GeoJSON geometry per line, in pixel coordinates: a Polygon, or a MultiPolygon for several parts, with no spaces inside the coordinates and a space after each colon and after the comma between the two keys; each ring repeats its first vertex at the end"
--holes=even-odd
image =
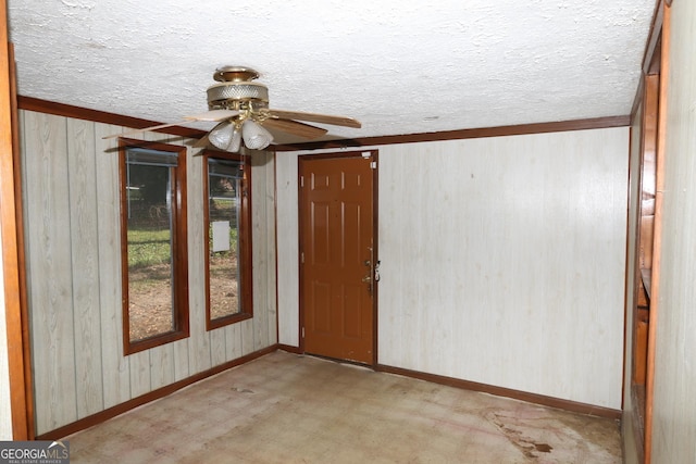
{"type": "Polygon", "coordinates": [[[126,354],[188,337],[186,149],[122,140],[126,354]]]}

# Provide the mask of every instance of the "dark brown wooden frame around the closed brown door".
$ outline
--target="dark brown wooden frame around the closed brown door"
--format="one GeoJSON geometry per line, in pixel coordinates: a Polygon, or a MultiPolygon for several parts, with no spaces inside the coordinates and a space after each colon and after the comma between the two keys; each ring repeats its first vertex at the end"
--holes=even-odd
{"type": "MultiPolygon", "coordinates": [[[[300,154],[297,158],[297,190],[298,190],[298,202],[297,202],[297,225],[298,225],[298,234],[297,234],[297,240],[298,240],[298,256],[297,256],[297,269],[298,269],[298,296],[299,296],[299,302],[298,302],[298,306],[299,306],[299,324],[298,324],[298,339],[299,339],[299,351],[300,353],[304,353],[304,305],[303,305],[303,294],[302,294],[302,237],[304,234],[304,230],[302,230],[302,222],[301,222],[301,217],[302,217],[302,204],[300,198],[301,198],[301,188],[302,188],[302,179],[301,179],[301,173],[302,173],[302,165],[304,163],[309,163],[312,160],[326,160],[326,159],[347,159],[347,158],[364,158],[364,154],[371,155],[372,160],[373,160],[373,168],[372,168],[372,248],[373,248],[373,259],[375,261],[375,263],[377,263],[377,266],[375,266],[374,268],[376,269],[378,267],[378,263],[380,263],[380,247],[378,247],[378,223],[377,223],[377,218],[380,217],[378,214],[378,204],[380,204],[380,195],[378,195],[378,171],[380,171],[380,152],[376,149],[371,149],[371,150],[360,150],[360,151],[339,151],[339,152],[325,152],[325,153],[319,153],[319,154],[300,154]]],[[[378,275],[378,273],[375,272],[375,274],[378,275]]],[[[373,278],[373,287],[372,287],[372,362],[370,364],[368,364],[369,366],[371,366],[372,368],[376,368],[377,366],[377,356],[378,356],[378,337],[377,337],[377,333],[378,333],[378,317],[377,317],[377,313],[378,313],[378,294],[380,294],[380,279],[375,277],[375,275],[372,276],[373,278]]],[[[365,365],[362,363],[353,363],[352,361],[348,361],[348,360],[339,360],[343,363],[348,363],[348,364],[360,364],[360,365],[365,365]]]]}

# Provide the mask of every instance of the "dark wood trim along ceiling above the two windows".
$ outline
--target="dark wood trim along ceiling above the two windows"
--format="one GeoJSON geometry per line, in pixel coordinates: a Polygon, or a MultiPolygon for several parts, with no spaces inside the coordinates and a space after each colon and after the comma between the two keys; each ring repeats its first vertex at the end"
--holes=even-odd
{"type": "MultiPolygon", "coordinates": [[[[74,106],[66,103],[58,103],[53,101],[40,100],[33,97],[17,97],[20,110],[36,111],[39,113],[54,114],[57,116],[72,117],[75,120],[91,121],[95,123],[113,124],[114,126],[133,127],[141,129],[162,124],[158,121],[142,120],[139,117],[124,116],[105,111],[89,110],[86,108],[74,106]]],[[[207,131],[192,129],[184,126],[170,126],[163,129],[154,130],[162,134],[171,134],[181,137],[200,139],[206,136],[207,131]]]]}

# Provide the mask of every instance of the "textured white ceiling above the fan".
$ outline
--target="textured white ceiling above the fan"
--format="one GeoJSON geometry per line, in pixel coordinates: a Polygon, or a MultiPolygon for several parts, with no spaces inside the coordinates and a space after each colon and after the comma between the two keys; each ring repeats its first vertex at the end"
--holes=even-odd
{"type": "MultiPolygon", "coordinates": [[[[655,0],[9,0],[20,95],[163,123],[223,65],[340,137],[626,115],[655,0]]],[[[209,126],[198,126],[207,128],[209,126]]]]}

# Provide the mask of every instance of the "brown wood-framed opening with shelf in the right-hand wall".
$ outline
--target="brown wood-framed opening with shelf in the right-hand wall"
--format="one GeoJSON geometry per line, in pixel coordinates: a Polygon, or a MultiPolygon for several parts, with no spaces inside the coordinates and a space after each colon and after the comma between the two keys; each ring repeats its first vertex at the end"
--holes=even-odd
{"type": "MultiPolygon", "coordinates": [[[[633,428],[633,440],[637,459],[646,464],[650,463],[652,449],[652,397],[655,383],[655,356],[657,326],[659,324],[659,276],[660,276],[660,242],[662,235],[662,191],[664,190],[664,143],[667,137],[667,89],[669,83],[669,47],[670,47],[670,8],[666,0],[658,0],[654,23],[643,61],[643,73],[638,93],[632,111],[635,117],[639,104],[643,110],[639,121],[641,146],[635,153],[639,156],[637,178],[638,196],[637,217],[635,224],[629,224],[627,234],[635,238],[633,249],[626,251],[635,256],[633,268],[626,267],[626,330],[624,333],[624,396],[631,401],[631,410],[626,414],[624,397],[624,421],[630,421],[633,428]],[[645,161],[646,154],[652,160],[645,161]],[[643,209],[643,192],[647,178],[655,190],[655,206],[651,226],[642,227],[642,218],[648,216],[643,209]],[[645,234],[644,234],[645,233],[645,234]],[[641,247],[646,250],[649,259],[643,266],[641,247]],[[632,304],[627,296],[632,296],[632,304]],[[643,298],[639,298],[642,296],[643,298]],[[639,328],[638,305],[648,310],[646,328],[639,328]],[[627,348],[631,347],[629,351],[627,348]],[[627,387],[627,388],[626,388],[627,387]]],[[[632,150],[633,154],[633,150],[632,150]]],[[[631,193],[631,192],[629,192],[631,193]]],[[[626,238],[629,247],[629,238],[626,238]]],[[[626,266],[629,261],[626,261],[626,266]]],[[[626,444],[624,438],[624,447],[626,444]]]]}

